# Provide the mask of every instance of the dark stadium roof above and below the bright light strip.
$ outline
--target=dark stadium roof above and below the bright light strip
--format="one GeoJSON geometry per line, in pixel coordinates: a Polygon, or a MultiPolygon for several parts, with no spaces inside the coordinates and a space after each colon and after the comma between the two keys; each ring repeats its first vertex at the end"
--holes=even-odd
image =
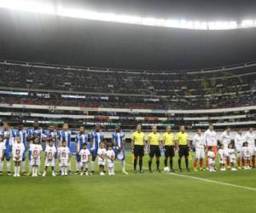
{"type": "MultiPolygon", "coordinates": [[[[12,1],[0,0],[0,5],[12,1]]],[[[87,9],[98,13],[127,11],[127,14],[143,17],[154,13],[156,18],[172,14],[170,17],[177,20],[185,17],[214,21],[219,17],[219,20],[241,23],[241,20],[256,18],[253,4],[235,0],[232,5],[224,1],[186,1],[186,4],[163,0],[55,1],[54,5],[70,8],[70,3],[76,9],[84,9],[86,5],[87,9]]],[[[2,60],[154,70],[196,69],[255,60],[256,28],[191,31],[25,13],[20,11],[22,7],[24,9],[24,5],[15,10],[0,9],[2,60]]],[[[36,9],[47,12],[44,7],[36,9]]]]}

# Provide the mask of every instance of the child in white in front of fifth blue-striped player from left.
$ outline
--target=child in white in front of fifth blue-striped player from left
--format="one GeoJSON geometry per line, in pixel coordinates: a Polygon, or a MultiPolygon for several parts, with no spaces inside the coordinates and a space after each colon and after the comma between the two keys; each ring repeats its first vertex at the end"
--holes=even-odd
{"type": "Polygon", "coordinates": [[[69,147],[67,147],[67,141],[61,141],[61,147],[59,147],[58,154],[60,160],[61,176],[67,176],[67,168],[70,164],[70,151],[69,147]]]}

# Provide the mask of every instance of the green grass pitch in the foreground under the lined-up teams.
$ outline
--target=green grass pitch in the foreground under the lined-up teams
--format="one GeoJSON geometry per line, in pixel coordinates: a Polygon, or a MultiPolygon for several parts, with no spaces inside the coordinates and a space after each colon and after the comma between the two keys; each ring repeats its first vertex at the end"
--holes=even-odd
{"type": "MultiPolygon", "coordinates": [[[[0,212],[256,212],[256,170],[134,174],[131,154],[126,157],[128,176],[120,174],[119,163],[116,176],[52,177],[49,172],[46,177],[15,178],[4,174],[0,212]]],[[[147,167],[147,156],[143,163],[147,167]]],[[[174,163],[177,167],[177,159],[174,163]]]]}

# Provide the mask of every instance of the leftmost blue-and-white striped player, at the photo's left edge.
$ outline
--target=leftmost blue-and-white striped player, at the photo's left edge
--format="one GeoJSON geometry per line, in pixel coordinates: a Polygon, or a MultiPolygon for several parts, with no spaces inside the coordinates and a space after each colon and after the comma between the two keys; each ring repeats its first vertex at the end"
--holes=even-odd
{"type": "Polygon", "coordinates": [[[6,122],[3,122],[3,131],[1,133],[1,135],[3,135],[3,143],[4,143],[4,146],[5,146],[5,150],[4,150],[4,153],[3,153],[3,160],[4,158],[6,159],[6,166],[7,166],[7,175],[8,176],[11,176],[11,156],[12,156],[12,148],[11,148],[11,145],[12,145],[12,141],[11,141],[11,135],[12,135],[12,132],[11,130],[9,130],[9,124],[6,123],[6,122]]]}

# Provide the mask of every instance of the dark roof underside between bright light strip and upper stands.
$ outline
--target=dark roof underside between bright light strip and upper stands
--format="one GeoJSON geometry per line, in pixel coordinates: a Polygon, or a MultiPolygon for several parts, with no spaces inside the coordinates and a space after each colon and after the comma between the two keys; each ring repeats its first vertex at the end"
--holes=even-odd
{"type": "Polygon", "coordinates": [[[201,32],[0,9],[0,59],[129,69],[195,69],[256,60],[256,29],[201,32]]]}

